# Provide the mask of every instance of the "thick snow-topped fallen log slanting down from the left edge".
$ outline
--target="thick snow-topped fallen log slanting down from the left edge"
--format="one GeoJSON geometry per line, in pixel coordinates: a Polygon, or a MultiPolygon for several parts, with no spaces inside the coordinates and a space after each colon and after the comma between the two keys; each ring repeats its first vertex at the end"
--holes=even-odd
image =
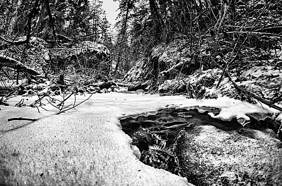
{"type": "Polygon", "coordinates": [[[4,55],[0,55],[0,65],[14,68],[19,72],[28,73],[29,75],[41,75],[41,73],[35,71],[31,67],[25,66],[23,63],[4,55]]]}

